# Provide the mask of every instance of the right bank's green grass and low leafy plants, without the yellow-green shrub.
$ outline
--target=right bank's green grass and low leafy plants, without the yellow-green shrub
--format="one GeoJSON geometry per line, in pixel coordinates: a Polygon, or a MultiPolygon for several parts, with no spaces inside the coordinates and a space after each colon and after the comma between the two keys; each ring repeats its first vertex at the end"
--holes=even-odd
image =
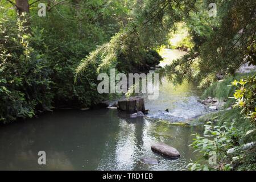
{"type": "MultiPolygon", "coordinates": [[[[245,118],[240,109],[226,109],[236,102],[234,98],[230,98],[233,97],[236,87],[228,85],[231,85],[234,80],[240,80],[253,74],[237,74],[234,77],[226,77],[221,82],[214,82],[202,95],[202,99],[210,96],[226,102],[223,110],[203,115],[193,121],[204,123],[206,131],[204,136],[196,137],[192,144],[193,148],[203,153],[205,159],[209,158],[212,151],[216,152],[217,156],[221,155],[219,159],[221,162],[212,169],[256,169],[256,147],[247,150],[241,148],[243,144],[256,141],[255,123],[252,123],[249,118],[245,118]],[[233,147],[238,148],[236,154],[227,154],[226,151],[233,147]]],[[[191,167],[191,169],[205,168],[208,169],[208,167],[202,167],[200,162],[192,163],[191,167]]]]}

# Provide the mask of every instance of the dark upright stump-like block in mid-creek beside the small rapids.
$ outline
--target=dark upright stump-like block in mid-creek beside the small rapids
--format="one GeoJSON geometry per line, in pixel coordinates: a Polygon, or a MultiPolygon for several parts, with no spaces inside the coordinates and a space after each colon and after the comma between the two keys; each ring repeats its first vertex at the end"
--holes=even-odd
{"type": "Polygon", "coordinates": [[[144,99],[140,97],[132,97],[129,100],[118,101],[118,109],[126,111],[127,113],[136,113],[142,111],[144,113],[144,99]]]}

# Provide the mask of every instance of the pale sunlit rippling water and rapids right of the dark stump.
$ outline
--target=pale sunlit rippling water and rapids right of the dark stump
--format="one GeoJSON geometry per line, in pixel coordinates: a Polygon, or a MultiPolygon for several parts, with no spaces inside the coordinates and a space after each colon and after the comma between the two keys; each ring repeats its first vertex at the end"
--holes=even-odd
{"type": "Polygon", "coordinates": [[[193,84],[184,83],[181,86],[174,86],[164,81],[159,89],[158,100],[148,100],[144,97],[146,108],[150,110],[147,117],[171,122],[199,117],[208,112],[199,102],[199,95],[199,90],[193,84]]]}

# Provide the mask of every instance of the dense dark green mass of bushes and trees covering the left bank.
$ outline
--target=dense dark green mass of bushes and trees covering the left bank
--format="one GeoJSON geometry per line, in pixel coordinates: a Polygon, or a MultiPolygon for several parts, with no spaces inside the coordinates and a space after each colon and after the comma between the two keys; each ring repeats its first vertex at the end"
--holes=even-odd
{"type": "MultiPolygon", "coordinates": [[[[53,6],[51,1],[42,1],[53,6]]],[[[33,117],[59,107],[88,107],[106,99],[97,92],[97,70],[89,65],[76,84],[77,65],[127,23],[134,1],[63,1],[38,16],[19,16],[0,6],[0,120],[33,117]],[[28,19],[28,21],[26,20],[28,19]]]]}

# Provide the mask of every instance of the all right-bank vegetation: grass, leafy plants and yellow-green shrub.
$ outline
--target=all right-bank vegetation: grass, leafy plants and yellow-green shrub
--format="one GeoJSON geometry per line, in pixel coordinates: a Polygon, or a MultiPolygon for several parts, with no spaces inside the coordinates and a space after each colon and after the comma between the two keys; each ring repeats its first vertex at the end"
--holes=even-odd
{"type": "Polygon", "coordinates": [[[203,155],[188,165],[192,170],[256,169],[256,76],[249,73],[234,78],[240,81],[230,82],[233,78],[228,77],[214,82],[203,94],[203,97],[225,100],[226,104],[224,110],[196,119],[196,122],[205,123],[205,131],[203,136],[195,134],[195,142],[191,144],[203,155]],[[246,148],[248,143],[251,146],[246,148]],[[231,148],[234,152],[228,152],[231,148]]]}

